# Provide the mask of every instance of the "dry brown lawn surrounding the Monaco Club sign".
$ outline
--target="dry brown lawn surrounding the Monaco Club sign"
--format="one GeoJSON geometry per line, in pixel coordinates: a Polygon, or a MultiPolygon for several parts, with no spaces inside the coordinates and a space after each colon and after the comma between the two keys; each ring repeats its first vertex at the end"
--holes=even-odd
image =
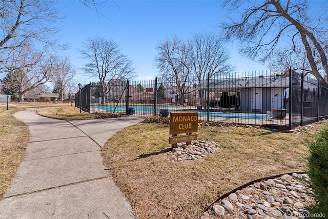
{"type": "Polygon", "coordinates": [[[138,218],[197,218],[216,197],[259,177],[306,169],[311,132],[295,135],[242,127],[200,127],[221,146],[206,159],[170,162],[169,126],[137,124],[102,150],[106,166],[138,218]]]}

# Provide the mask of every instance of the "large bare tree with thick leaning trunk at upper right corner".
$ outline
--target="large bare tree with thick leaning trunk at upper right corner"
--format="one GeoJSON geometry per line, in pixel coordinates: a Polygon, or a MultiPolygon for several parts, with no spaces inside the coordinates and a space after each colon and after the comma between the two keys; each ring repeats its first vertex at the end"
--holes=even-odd
{"type": "MultiPolygon", "coordinates": [[[[327,17],[326,3],[321,5],[325,14],[319,11],[311,17],[306,0],[227,0],[223,7],[235,16],[231,22],[223,24],[228,39],[241,42],[240,52],[262,63],[272,58],[277,50],[283,55],[294,57],[301,50],[306,54],[310,69],[302,69],[313,74],[318,81],[327,85],[322,75],[328,73],[327,64],[327,17]],[[246,8],[246,9],[245,9],[246,8]],[[239,13],[238,9],[242,12],[239,13]],[[236,18],[237,14],[241,14],[236,18]],[[325,16],[325,17],[323,17],[325,16]],[[290,42],[286,47],[285,42],[290,42]],[[319,62],[316,61],[319,57],[319,62]],[[324,73],[320,72],[320,68],[324,73]]],[[[302,65],[298,68],[302,68],[302,65]]]]}

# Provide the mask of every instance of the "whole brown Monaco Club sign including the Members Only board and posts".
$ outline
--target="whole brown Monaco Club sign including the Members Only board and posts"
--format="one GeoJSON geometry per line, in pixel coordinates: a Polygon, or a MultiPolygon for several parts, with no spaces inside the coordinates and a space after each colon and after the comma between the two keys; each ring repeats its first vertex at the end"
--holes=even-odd
{"type": "Polygon", "coordinates": [[[198,131],[198,112],[171,112],[169,144],[172,148],[177,147],[177,143],[186,142],[191,144],[191,141],[197,140],[198,131]],[[186,133],[185,135],[178,135],[186,133]]]}

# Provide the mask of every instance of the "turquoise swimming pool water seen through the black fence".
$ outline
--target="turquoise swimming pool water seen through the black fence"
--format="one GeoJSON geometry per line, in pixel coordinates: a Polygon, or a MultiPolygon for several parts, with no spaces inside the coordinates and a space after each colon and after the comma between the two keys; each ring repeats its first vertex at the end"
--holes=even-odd
{"type": "MultiPolygon", "coordinates": [[[[115,109],[115,106],[93,106],[94,108],[106,110],[109,112],[112,112],[115,109]]],[[[135,109],[135,112],[137,111],[150,111],[152,112],[154,107],[153,106],[130,106],[135,109]]],[[[174,107],[174,106],[159,106],[157,107],[157,111],[160,111],[160,109],[170,109],[171,112],[174,112],[178,109],[182,109],[181,107],[174,107]]],[[[126,106],[117,106],[116,110],[117,112],[125,112],[126,106]]],[[[199,112],[199,116],[207,116],[207,112],[199,112]]],[[[266,114],[258,114],[258,113],[235,113],[235,112],[210,112],[210,117],[225,117],[225,118],[244,118],[244,119],[255,119],[255,120],[265,120],[268,115],[266,114]]]]}

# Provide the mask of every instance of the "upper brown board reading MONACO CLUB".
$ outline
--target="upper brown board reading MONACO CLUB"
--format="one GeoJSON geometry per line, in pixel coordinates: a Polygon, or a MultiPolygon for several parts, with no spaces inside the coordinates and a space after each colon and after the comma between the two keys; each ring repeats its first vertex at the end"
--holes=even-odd
{"type": "Polygon", "coordinates": [[[170,134],[198,131],[198,112],[171,112],[170,134]]]}

